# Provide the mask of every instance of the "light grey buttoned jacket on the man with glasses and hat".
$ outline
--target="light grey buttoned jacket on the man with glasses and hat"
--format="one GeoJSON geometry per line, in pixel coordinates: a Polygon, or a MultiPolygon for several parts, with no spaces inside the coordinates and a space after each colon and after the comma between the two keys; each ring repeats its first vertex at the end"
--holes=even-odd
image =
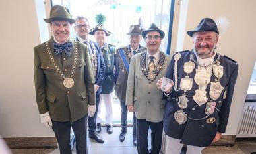
{"type": "MultiPolygon", "coordinates": [[[[162,92],[158,90],[156,82],[165,76],[170,63],[170,56],[165,54],[164,65],[157,78],[151,82],[141,70],[141,55],[142,53],[139,53],[131,58],[126,105],[134,106],[137,119],[146,119],[146,121],[158,123],[163,119],[165,101],[162,100],[162,92]]],[[[148,64],[147,60],[146,64],[148,64]]]]}

